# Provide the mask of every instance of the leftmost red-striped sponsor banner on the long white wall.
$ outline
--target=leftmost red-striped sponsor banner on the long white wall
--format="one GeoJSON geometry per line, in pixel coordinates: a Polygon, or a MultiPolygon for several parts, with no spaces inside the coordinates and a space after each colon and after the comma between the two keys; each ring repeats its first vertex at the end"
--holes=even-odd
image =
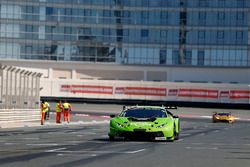
{"type": "Polygon", "coordinates": [[[98,85],[61,85],[61,91],[71,93],[113,94],[113,87],[98,85]]]}

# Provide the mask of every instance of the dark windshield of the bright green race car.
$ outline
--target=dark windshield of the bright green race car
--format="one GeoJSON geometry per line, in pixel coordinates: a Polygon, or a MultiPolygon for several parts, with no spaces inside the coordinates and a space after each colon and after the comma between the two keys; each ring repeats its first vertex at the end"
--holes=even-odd
{"type": "Polygon", "coordinates": [[[161,109],[129,109],[123,114],[124,117],[133,118],[165,118],[166,113],[161,109]]]}

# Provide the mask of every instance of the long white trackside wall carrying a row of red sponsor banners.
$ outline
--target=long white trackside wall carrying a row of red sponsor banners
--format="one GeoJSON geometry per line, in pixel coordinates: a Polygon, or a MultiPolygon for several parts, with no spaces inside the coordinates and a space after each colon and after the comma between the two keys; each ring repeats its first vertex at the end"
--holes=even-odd
{"type": "Polygon", "coordinates": [[[246,84],[42,79],[42,97],[249,104],[246,84]]]}

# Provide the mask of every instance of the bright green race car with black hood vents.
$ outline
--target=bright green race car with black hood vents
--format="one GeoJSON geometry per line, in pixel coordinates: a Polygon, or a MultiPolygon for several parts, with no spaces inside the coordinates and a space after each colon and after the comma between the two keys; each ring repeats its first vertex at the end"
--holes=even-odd
{"type": "MultiPolygon", "coordinates": [[[[111,115],[109,139],[150,139],[174,141],[179,139],[179,117],[169,107],[131,106],[124,107],[118,115],[111,115]]],[[[177,109],[175,107],[175,109],[177,109]]]]}

